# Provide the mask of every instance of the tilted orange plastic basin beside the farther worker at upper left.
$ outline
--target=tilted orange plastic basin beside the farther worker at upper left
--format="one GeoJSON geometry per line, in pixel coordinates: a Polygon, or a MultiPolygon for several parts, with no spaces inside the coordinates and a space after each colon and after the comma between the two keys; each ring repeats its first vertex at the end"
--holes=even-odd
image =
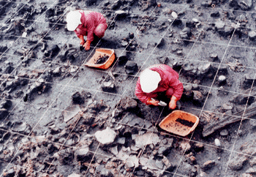
{"type": "Polygon", "coordinates": [[[94,56],[85,64],[87,67],[96,67],[99,69],[108,69],[113,61],[116,59],[115,51],[108,48],[97,48],[95,50],[94,56]],[[108,59],[103,64],[96,64],[100,56],[108,56],[108,59]]]}

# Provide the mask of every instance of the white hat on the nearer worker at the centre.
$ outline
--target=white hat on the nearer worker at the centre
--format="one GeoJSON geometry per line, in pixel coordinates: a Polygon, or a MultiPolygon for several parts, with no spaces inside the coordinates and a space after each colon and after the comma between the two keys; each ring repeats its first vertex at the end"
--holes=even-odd
{"type": "Polygon", "coordinates": [[[150,93],[158,87],[161,77],[158,72],[152,71],[151,69],[145,69],[140,74],[140,86],[142,91],[150,93]]]}

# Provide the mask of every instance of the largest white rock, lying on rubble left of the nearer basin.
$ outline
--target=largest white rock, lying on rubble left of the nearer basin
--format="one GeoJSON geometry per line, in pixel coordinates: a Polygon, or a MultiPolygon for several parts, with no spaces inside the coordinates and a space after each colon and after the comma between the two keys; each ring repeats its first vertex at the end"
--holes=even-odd
{"type": "Polygon", "coordinates": [[[107,127],[102,131],[96,132],[95,138],[97,139],[97,141],[99,141],[99,143],[110,144],[113,143],[113,141],[115,140],[116,132],[113,129],[110,129],[110,127],[107,127]]]}

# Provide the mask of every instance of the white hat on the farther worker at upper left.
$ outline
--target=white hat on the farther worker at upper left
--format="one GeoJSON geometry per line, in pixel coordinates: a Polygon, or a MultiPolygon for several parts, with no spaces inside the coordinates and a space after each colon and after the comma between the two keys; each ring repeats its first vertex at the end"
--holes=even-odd
{"type": "Polygon", "coordinates": [[[82,15],[78,10],[70,11],[67,14],[67,30],[69,31],[75,31],[75,29],[78,28],[78,25],[80,25],[82,15]]]}

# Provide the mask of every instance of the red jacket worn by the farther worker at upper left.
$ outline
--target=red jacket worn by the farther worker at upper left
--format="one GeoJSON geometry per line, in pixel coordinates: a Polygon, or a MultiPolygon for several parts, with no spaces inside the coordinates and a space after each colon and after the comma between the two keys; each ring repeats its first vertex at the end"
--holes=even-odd
{"type": "Polygon", "coordinates": [[[99,12],[89,11],[89,10],[79,10],[81,13],[81,23],[77,29],[75,29],[75,34],[87,36],[87,40],[94,40],[94,29],[100,23],[106,23],[106,19],[99,12]]]}

